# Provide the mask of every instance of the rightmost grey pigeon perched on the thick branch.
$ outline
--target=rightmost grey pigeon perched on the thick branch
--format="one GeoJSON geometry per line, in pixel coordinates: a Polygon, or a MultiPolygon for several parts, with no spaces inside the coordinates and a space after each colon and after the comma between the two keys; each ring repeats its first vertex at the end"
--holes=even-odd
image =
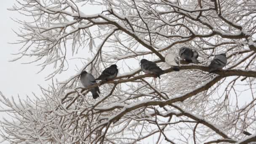
{"type": "Polygon", "coordinates": [[[211,64],[209,65],[209,71],[214,72],[216,70],[222,69],[227,64],[227,57],[225,53],[221,53],[213,58],[211,64]]]}

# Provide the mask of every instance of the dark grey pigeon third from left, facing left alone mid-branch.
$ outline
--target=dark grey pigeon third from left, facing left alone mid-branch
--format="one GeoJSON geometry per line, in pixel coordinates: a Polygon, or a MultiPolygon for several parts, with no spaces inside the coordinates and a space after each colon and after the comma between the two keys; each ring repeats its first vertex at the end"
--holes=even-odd
{"type": "Polygon", "coordinates": [[[157,75],[159,78],[163,74],[163,70],[155,62],[148,61],[147,59],[141,59],[141,70],[147,74],[157,75]]]}

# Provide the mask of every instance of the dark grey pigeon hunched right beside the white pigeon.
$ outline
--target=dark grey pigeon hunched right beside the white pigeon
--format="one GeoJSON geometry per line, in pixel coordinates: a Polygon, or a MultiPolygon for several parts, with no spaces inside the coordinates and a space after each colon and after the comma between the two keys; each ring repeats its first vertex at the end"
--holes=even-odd
{"type": "Polygon", "coordinates": [[[197,51],[192,51],[191,48],[182,47],[179,49],[179,57],[185,59],[187,62],[193,62],[195,64],[200,63],[197,58],[199,54],[197,51]]]}

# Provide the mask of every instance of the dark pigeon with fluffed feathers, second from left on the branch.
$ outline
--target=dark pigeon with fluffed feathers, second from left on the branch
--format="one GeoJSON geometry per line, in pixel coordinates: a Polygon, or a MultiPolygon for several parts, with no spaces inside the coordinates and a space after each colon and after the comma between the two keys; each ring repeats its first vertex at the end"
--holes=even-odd
{"type": "Polygon", "coordinates": [[[117,77],[117,73],[118,73],[117,65],[112,64],[107,69],[104,69],[104,71],[96,80],[102,80],[102,81],[112,80],[115,77],[117,77]]]}

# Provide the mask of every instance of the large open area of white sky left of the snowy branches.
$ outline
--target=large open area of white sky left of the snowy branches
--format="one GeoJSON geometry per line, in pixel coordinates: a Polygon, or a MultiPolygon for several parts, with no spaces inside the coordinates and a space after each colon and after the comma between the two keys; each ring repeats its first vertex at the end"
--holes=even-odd
{"type": "Polygon", "coordinates": [[[36,64],[21,64],[22,62],[26,62],[27,58],[22,59],[22,61],[8,62],[16,57],[11,55],[11,53],[17,53],[21,46],[19,44],[8,44],[18,40],[12,29],[18,29],[19,24],[11,18],[21,18],[21,14],[16,11],[7,10],[7,8],[12,7],[13,3],[14,0],[5,0],[5,3],[1,3],[0,5],[2,17],[2,21],[0,22],[0,65],[2,67],[0,69],[0,91],[7,97],[16,97],[18,94],[22,97],[26,94],[31,94],[32,91],[39,93],[38,84],[47,86],[49,81],[46,82],[44,80],[46,76],[45,71],[36,74],[40,70],[40,67],[35,66],[36,64]]]}

